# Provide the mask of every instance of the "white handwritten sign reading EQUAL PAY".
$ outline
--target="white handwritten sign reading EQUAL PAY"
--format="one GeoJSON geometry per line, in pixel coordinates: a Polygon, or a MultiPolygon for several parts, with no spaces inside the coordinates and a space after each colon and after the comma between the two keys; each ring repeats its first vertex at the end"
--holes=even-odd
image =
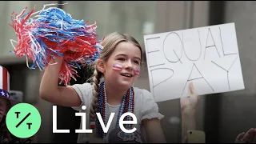
{"type": "Polygon", "coordinates": [[[156,102],[245,89],[234,23],[144,36],[156,102]]]}

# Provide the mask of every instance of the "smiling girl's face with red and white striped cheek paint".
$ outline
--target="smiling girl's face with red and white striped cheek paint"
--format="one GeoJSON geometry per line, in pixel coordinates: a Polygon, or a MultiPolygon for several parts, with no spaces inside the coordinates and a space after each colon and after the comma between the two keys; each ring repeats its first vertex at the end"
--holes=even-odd
{"type": "Polygon", "coordinates": [[[105,81],[122,88],[132,86],[138,78],[140,65],[141,50],[138,46],[131,42],[120,42],[104,63],[102,70],[105,81]]]}

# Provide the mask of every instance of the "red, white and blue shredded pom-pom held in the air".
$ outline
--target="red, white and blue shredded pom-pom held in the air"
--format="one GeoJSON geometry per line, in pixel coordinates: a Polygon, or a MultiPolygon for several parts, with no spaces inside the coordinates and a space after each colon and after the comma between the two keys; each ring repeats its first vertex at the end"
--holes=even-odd
{"type": "Polygon", "coordinates": [[[32,60],[30,69],[46,70],[51,58],[63,57],[59,79],[60,83],[70,85],[71,78],[78,77],[75,69],[94,62],[102,50],[101,41],[97,39],[97,25],[96,22],[87,25],[88,22],[75,20],[62,9],[45,9],[46,6],[38,12],[34,12],[34,7],[28,13],[25,13],[27,8],[21,14],[13,13],[10,26],[18,40],[16,46],[14,40],[10,42],[14,54],[32,60]]]}

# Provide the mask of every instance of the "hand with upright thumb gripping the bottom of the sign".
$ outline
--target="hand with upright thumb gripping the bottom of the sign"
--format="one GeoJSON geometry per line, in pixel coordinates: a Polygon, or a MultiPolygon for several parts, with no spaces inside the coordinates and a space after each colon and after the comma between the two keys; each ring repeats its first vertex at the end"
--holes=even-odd
{"type": "Polygon", "coordinates": [[[198,100],[199,100],[199,96],[198,94],[196,94],[194,85],[192,82],[190,83],[189,87],[190,87],[190,96],[182,97],[180,99],[182,112],[186,114],[196,111],[196,108],[198,107],[198,100]]]}

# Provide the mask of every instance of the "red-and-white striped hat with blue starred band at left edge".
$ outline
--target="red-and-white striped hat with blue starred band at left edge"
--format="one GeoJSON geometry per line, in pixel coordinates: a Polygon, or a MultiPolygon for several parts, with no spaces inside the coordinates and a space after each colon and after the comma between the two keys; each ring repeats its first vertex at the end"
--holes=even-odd
{"type": "Polygon", "coordinates": [[[9,98],[10,74],[6,68],[0,66],[0,97],[9,98]]]}

